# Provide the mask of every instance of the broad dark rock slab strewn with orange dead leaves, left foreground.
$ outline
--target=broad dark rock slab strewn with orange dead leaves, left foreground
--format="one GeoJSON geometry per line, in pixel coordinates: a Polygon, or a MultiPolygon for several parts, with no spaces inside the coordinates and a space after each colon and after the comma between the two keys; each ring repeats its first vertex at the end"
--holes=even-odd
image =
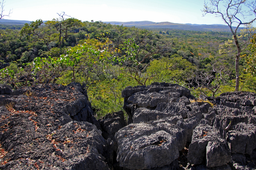
{"type": "Polygon", "coordinates": [[[114,144],[102,137],[83,86],[23,87],[0,101],[0,169],[111,167],[114,144]]]}

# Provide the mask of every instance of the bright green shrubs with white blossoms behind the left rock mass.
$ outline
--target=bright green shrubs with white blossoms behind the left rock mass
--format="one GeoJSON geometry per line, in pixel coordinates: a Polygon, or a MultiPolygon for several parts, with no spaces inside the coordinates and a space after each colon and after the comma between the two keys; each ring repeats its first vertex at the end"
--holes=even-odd
{"type": "MultiPolygon", "coordinates": [[[[59,77],[70,74],[70,71],[72,71],[72,76],[68,77],[69,80],[75,81],[76,73],[78,73],[79,76],[82,75],[84,78],[82,79],[83,82],[80,83],[88,85],[104,71],[104,67],[100,64],[107,63],[110,55],[107,43],[101,43],[97,40],[85,40],[84,43],[70,48],[66,55],[60,55],[57,58],[51,56],[48,56],[48,58],[36,57],[32,63],[26,65],[25,71],[18,70],[15,74],[11,69],[2,69],[0,71],[0,80],[13,85],[22,82],[25,82],[23,85],[32,82],[55,83],[59,77]],[[97,73],[96,76],[95,72],[97,73]],[[20,77],[24,77],[26,80],[20,81],[20,77]]],[[[65,82],[61,81],[59,83],[65,84],[65,82]]]]}

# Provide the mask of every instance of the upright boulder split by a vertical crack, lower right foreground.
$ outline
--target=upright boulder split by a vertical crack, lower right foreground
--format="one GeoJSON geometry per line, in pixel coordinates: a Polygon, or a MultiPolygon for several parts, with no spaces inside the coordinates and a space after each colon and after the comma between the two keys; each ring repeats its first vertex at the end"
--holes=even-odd
{"type": "Polygon", "coordinates": [[[217,129],[200,124],[193,130],[192,143],[188,149],[188,162],[207,167],[222,166],[231,159],[228,142],[220,136],[217,129]]]}

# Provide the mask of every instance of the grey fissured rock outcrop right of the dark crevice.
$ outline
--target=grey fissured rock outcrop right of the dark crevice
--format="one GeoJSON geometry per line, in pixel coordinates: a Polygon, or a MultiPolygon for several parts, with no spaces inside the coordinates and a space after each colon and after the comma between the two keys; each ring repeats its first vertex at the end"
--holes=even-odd
{"type": "Polygon", "coordinates": [[[244,159],[246,154],[253,155],[256,148],[256,94],[231,92],[216,98],[200,96],[195,100],[184,87],[153,83],[127,87],[122,96],[129,118],[128,126],[116,132],[117,161],[121,167],[164,169],[169,166],[179,169],[181,166],[171,164],[175,165],[174,162],[181,159],[187,159],[185,169],[230,170],[255,165],[249,165],[247,157],[247,161],[244,159]],[[136,131],[128,128],[130,125],[137,127],[136,131]],[[175,150],[171,149],[169,153],[163,150],[165,161],[159,154],[163,134],[173,138],[166,137],[180,154],[179,159],[170,157],[172,163],[168,162],[170,159],[166,155],[176,155],[175,150]],[[161,144],[160,147],[154,148],[156,143],[161,144]],[[153,158],[157,158],[157,163],[153,158]]]}

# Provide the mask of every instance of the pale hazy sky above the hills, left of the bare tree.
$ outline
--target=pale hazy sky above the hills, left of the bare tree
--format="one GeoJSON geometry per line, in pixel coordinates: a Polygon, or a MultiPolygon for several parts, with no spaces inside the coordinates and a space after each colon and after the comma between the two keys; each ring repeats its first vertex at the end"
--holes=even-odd
{"type": "Polygon", "coordinates": [[[204,0],[5,0],[5,19],[51,20],[56,13],[82,21],[153,21],[180,24],[225,24],[221,18],[202,17],[204,0]]]}

